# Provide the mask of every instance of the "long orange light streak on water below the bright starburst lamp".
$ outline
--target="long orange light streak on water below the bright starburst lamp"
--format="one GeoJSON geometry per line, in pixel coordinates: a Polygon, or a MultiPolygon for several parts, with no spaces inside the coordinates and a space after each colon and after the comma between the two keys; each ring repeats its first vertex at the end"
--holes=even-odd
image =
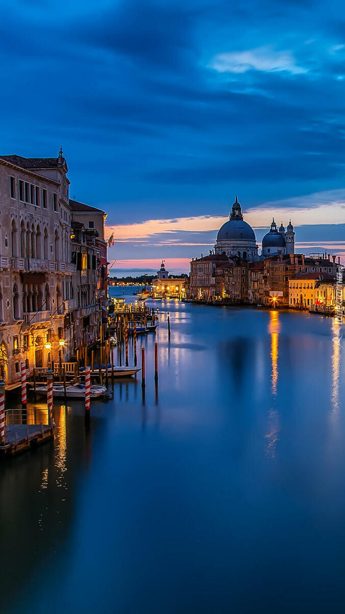
{"type": "Polygon", "coordinates": [[[280,332],[279,313],[277,311],[269,312],[268,332],[271,335],[271,393],[273,396],[273,406],[268,414],[268,432],[265,435],[267,440],[266,454],[271,458],[276,456],[276,445],[278,441],[279,414],[274,408],[277,397],[278,384],[278,353],[279,353],[279,332],[280,332]]]}

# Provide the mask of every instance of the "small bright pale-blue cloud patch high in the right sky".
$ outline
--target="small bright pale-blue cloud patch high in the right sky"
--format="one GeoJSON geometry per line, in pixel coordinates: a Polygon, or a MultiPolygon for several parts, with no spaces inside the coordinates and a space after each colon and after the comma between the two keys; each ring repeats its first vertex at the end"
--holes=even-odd
{"type": "Polygon", "coordinates": [[[292,52],[276,51],[268,46],[247,51],[218,53],[209,66],[217,72],[234,72],[236,74],[250,70],[290,72],[293,75],[308,72],[306,68],[297,66],[292,52]]]}

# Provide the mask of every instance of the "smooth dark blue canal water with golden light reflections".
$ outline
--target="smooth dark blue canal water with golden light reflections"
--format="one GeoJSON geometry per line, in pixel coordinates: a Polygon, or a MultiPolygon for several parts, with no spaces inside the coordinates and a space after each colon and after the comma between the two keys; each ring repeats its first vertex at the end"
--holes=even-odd
{"type": "Polygon", "coordinates": [[[152,335],[144,404],[116,383],[90,431],[56,405],[55,443],[1,465],[1,612],[342,612],[341,331],[157,304],[158,399],[152,335]]]}

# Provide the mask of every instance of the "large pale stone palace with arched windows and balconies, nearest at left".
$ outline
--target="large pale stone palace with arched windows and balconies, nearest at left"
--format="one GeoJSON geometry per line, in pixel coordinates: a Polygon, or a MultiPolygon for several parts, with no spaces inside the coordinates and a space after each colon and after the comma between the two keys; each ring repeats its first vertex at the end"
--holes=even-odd
{"type": "Polygon", "coordinates": [[[7,385],[20,379],[21,362],[31,375],[33,367],[75,356],[80,272],[67,173],[62,150],[55,158],[0,157],[0,369],[7,385]]]}

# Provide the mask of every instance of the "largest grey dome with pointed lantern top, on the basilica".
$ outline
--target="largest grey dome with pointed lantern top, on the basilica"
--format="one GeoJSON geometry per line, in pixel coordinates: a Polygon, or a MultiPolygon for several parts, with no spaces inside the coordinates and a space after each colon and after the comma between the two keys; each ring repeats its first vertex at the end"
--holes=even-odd
{"type": "Polygon", "coordinates": [[[258,245],[254,230],[247,222],[244,222],[241,205],[235,198],[235,203],[230,211],[230,216],[220,228],[214,251],[216,255],[233,256],[243,260],[258,259],[258,245]]]}

